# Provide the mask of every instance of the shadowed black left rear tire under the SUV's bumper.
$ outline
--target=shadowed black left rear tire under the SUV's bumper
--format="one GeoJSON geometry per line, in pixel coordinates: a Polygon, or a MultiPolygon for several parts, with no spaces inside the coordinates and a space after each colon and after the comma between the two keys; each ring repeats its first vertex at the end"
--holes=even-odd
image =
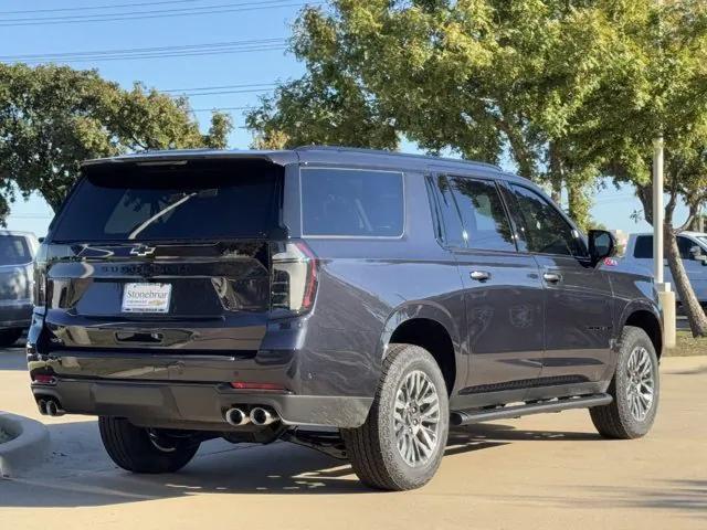
{"type": "Polygon", "coordinates": [[[177,471],[193,458],[200,445],[189,437],[150,437],[147,428],[136,427],[124,417],[101,416],[98,428],[108,456],[133,473],[177,471]]]}

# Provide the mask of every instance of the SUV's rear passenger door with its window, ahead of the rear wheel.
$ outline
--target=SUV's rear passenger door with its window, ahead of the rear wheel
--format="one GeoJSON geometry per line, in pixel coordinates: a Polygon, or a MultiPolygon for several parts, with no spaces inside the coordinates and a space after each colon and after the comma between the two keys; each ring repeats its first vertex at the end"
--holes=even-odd
{"type": "Polygon", "coordinates": [[[493,180],[439,176],[434,180],[443,244],[464,283],[469,404],[521,400],[540,374],[544,293],[538,267],[516,250],[493,180]],[[503,393],[503,399],[500,398],[503,393]]]}

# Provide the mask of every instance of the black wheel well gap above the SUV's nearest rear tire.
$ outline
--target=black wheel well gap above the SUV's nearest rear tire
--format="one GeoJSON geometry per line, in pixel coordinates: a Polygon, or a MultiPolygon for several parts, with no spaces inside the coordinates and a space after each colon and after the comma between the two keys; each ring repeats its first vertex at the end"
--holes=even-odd
{"type": "Polygon", "coordinates": [[[452,393],[456,380],[456,359],[452,338],[444,326],[429,318],[405,320],[393,331],[390,342],[415,344],[428,350],[440,365],[447,392],[452,393]]]}

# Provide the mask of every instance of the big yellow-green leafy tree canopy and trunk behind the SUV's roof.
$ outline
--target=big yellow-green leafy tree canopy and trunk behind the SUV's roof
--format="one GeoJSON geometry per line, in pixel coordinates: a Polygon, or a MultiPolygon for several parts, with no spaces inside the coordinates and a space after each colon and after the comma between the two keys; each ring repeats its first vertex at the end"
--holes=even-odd
{"type": "Polygon", "coordinates": [[[668,262],[693,332],[707,333],[673,236],[678,197],[701,201],[705,189],[707,2],[330,3],[303,10],[292,50],[307,74],[250,114],[257,138],[374,145],[367,132],[384,130],[393,146],[404,135],[432,152],[490,162],[507,152],[553,199],[564,187],[585,226],[599,176],[633,183],[645,203],[651,139],[663,131],[668,262]]]}

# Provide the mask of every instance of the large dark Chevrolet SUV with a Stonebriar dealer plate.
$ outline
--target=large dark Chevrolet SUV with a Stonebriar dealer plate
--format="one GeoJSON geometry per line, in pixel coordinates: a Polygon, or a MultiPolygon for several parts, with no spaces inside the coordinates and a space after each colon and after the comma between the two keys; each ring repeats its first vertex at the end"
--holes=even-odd
{"type": "Polygon", "coordinates": [[[44,414],[99,416],[115,463],[286,439],[368,485],[434,475],[450,425],[590,409],[643,436],[662,324],[526,179],[308,147],[92,160],[40,247],[28,339],[44,414]]]}

